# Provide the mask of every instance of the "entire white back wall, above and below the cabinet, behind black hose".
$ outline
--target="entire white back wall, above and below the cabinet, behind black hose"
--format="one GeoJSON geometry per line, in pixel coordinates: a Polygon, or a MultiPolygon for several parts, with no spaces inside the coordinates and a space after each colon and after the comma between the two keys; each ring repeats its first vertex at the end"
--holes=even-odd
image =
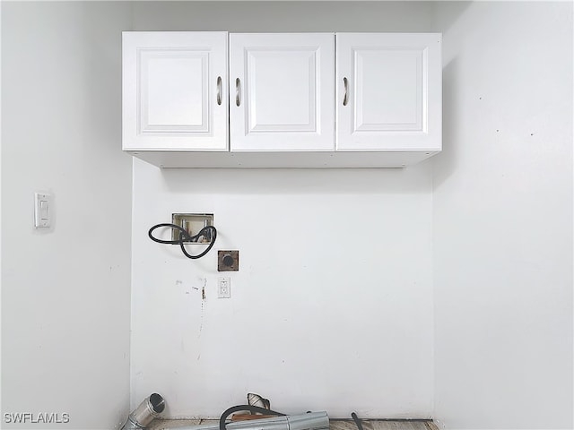
{"type": "MultiPolygon", "coordinates": [[[[427,31],[431,4],[134,6],[135,30],[427,31]]],[[[331,417],[432,413],[431,165],[401,170],[164,170],[135,160],[132,407],[219,417],[248,391],[331,417]],[[232,297],[215,253],[147,237],[213,212],[213,251],[239,249],[232,297]],[[205,284],[205,299],[202,288],[205,284]]]]}

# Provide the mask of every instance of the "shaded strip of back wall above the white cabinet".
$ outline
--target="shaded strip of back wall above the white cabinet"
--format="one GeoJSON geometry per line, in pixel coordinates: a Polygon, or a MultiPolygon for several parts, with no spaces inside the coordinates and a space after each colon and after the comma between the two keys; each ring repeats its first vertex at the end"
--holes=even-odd
{"type": "Polygon", "coordinates": [[[426,31],[431,2],[205,1],[133,3],[134,30],[426,31]]]}

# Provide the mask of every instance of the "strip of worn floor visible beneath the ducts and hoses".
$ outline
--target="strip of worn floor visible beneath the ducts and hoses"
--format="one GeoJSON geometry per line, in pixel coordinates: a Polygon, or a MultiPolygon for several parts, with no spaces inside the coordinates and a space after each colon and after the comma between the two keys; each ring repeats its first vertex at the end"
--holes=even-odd
{"type": "MultiPolygon", "coordinates": [[[[145,428],[146,430],[177,430],[182,427],[208,424],[217,424],[217,421],[205,419],[154,419],[145,428]]],[[[361,425],[364,430],[439,430],[439,427],[430,419],[362,419],[361,425]]],[[[329,427],[330,430],[357,430],[357,426],[352,419],[331,419],[329,420],[329,427]]]]}

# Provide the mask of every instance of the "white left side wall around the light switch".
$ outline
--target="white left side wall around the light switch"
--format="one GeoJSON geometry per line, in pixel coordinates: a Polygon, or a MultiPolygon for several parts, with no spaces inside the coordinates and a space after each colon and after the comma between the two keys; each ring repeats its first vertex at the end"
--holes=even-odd
{"type": "Polygon", "coordinates": [[[129,408],[125,4],[2,3],[3,428],[114,428],[129,408]],[[54,196],[33,228],[33,193],[54,196]],[[68,413],[8,425],[4,413],[68,413]]]}

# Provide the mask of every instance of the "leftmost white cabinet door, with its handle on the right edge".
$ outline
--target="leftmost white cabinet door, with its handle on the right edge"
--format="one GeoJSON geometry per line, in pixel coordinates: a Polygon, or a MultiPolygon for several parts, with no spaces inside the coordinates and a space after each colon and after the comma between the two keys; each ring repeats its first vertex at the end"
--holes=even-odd
{"type": "Polygon", "coordinates": [[[227,32],[124,32],[124,150],[227,150],[227,82],[227,32]]]}

